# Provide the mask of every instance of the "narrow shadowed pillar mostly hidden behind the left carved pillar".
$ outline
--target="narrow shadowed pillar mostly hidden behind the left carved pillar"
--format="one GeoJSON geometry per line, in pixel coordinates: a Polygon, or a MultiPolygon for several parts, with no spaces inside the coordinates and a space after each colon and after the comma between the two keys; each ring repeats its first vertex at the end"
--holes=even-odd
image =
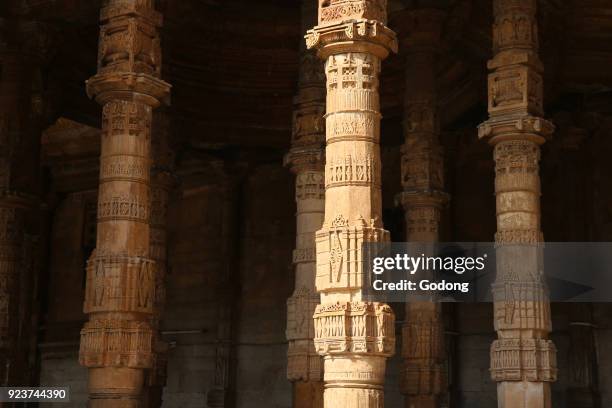
{"type": "Polygon", "coordinates": [[[160,322],[166,303],[166,269],[168,266],[167,214],[168,196],[174,187],[174,157],[169,147],[170,119],[166,112],[153,117],[151,166],[151,259],[155,261],[155,304],[151,326],[154,331],[153,367],[146,378],[143,406],[159,408],[166,385],[168,344],[161,338],[160,322]]]}

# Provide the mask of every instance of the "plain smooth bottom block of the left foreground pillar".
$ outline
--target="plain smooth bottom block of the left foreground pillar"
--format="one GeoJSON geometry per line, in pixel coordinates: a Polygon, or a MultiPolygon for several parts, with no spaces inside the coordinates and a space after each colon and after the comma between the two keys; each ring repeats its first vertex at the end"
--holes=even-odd
{"type": "Polygon", "coordinates": [[[89,369],[89,408],[141,408],[144,372],[105,367],[89,369]]]}

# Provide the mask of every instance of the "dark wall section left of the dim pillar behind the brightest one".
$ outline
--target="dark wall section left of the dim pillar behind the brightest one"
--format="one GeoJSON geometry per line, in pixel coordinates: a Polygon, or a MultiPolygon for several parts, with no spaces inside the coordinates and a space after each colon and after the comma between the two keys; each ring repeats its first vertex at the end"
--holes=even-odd
{"type": "Polygon", "coordinates": [[[244,186],[241,288],[236,333],[236,407],[291,405],[286,378],[286,300],[293,291],[293,177],[257,168],[244,186]]]}

